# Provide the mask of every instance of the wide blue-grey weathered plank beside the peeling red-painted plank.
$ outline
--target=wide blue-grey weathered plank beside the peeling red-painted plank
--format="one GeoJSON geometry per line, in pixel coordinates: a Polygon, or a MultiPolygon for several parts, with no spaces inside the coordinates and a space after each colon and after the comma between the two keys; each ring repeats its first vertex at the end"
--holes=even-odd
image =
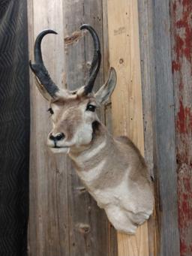
{"type": "Polygon", "coordinates": [[[180,255],[169,1],[154,1],[156,172],[159,183],[160,255],[180,255]],[[171,202],[171,203],[170,203],[171,202]]]}

